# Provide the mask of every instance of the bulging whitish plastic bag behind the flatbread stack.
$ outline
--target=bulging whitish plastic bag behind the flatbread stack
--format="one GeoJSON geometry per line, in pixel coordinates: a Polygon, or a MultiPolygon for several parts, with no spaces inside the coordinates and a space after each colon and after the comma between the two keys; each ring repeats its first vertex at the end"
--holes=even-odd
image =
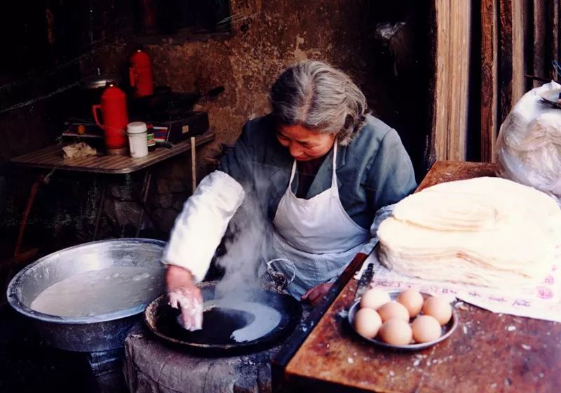
{"type": "Polygon", "coordinates": [[[496,161],[502,178],[539,189],[561,201],[561,109],[541,94],[560,89],[555,82],[520,98],[501,125],[496,161]]]}

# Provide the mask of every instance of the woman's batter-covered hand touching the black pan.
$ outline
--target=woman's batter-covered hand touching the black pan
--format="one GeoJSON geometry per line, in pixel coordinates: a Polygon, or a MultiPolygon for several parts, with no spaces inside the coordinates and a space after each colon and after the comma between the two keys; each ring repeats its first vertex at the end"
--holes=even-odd
{"type": "Polygon", "coordinates": [[[168,265],[165,274],[170,306],[181,310],[181,321],[188,331],[203,328],[203,295],[193,284],[189,270],[176,265],[168,265]]]}

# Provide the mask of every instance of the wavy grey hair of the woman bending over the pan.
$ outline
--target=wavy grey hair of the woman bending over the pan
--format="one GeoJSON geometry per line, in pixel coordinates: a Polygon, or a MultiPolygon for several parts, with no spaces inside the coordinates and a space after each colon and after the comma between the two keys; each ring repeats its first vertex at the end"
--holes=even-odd
{"type": "Polygon", "coordinates": [[[323,62],[305,60],[280,74],[269,93],[277,124],[299,124],[334,133],[348,145],[365,123],[366,98],[344,72],[323,62]]]}

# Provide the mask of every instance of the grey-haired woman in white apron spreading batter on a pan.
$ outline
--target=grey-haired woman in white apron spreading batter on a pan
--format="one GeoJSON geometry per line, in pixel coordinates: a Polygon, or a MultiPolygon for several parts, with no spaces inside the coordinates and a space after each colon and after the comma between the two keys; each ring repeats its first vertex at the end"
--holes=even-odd
{"type": "MultiPolygon", "coordinates": [[[[270,100],[271,113],[245,124],[187,200],[163,255],[170,304],[188,329],[202,324],[194,283],[250,194],[270,222],[269,258],[294,263],[288,289],[314,304],[368,244],[376,211],[416,187],[398,133],[367,114],[365,96],[338,69],[299,62],[278,77],[270,100]]],[[[276,268],[290,274],[288,265],[276,268]]]]}

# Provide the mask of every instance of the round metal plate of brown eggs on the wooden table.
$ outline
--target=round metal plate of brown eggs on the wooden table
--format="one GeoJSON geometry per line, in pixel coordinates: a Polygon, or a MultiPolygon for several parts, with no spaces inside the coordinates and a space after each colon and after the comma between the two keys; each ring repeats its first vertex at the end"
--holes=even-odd
{"type": "Polygon", "coordinates": [[[412,289],[370,289],[353,303],[348,320],[365,340],[407,351],[446,340],[458,326],[458,315],[447,300],[412,289]]]}

